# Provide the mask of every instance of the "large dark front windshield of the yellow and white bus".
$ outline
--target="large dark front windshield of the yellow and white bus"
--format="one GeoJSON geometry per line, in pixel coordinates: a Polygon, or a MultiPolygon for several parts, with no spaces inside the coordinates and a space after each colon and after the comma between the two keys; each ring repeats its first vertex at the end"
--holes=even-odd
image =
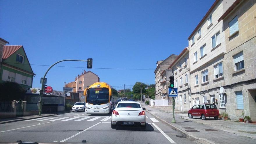
{"type": "Polygon", "coordinates": [[[106,104],[109,102],[108,88],[89,88],[87,90],[87,103],[92,104],[106,104]]]}

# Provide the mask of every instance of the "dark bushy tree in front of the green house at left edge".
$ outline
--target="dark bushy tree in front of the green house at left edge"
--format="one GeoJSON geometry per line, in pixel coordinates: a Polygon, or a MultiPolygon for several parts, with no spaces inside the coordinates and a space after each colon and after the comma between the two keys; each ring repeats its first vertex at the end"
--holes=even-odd
{"type": "Polygon", "coordinates": [[[0,83],[0,101],[23,101],[26,89],[22,88],[18,83],[6,81],[0,83]]]}

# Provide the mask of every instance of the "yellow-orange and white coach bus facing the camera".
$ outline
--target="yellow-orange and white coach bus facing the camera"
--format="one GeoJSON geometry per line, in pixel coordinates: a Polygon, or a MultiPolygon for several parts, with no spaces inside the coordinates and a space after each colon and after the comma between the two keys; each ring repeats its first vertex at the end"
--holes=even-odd
{"type": "Polygon", "coordinates": [[[85,96],[85,112],[90,114],[111,113],[118,99],[117,90],[108,83],[93,83],[83,91],[85,96]]]}

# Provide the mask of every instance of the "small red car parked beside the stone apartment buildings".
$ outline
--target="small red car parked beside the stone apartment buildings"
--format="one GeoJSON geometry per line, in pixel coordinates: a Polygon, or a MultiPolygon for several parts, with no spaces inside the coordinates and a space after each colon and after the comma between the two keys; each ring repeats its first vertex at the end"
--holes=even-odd
{"type": "Polygon", "coordinates": [[[215,104],[197,104],[189,110],[188,114],[189,118],[198,116],[202,120],[206,120],[207,117],[214,117],[215,120],[218,120],[220,113],[215,104]]]}

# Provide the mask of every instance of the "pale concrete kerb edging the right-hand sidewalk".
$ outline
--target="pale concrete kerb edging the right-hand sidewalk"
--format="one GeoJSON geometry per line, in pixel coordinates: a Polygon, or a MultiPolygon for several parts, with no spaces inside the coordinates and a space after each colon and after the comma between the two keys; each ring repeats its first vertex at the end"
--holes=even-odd
{"type": "MultiPolygon", "coordinates": [[[[147,110],[146,110],[146,111],[147,111],[147,110]]],[[[150,111],[147,111],[147,112],[150,113],[150,114],[152,114],[152,115],[154,115],[154,114],[151,113],[150,111]]],[[[186,131],[184,131],[184,130],[182,130],[182,129],[180,129],[180,128],[178,128],[178,127],[172,125],[172,124],[170,124],[169,122],[166,122],[165,120],[159,118],[159,117],[156,116],[156,115],[154,115],[154,117],[156,117],[157,119],[159,119],[159,120],[162,121],[163,123],[169,125],[170,127],[172,127],[172,129],[181,132],[181,133],[184,134],[188,139],[190,139],[190,140],[192,140],[192,141],[198,141],[199,143],[202,143],[202,141],[203,141],[204,144],[216,144],[216,143],[214,143],[214,142],[212,143],[212,142],[206,141],[205,139],[202,139],[202,138],[198,138],[198,137],[196,137],[196,136],[193,136],[193,135],[189,134],[188,132],[186,132],[186,131]]]]}

